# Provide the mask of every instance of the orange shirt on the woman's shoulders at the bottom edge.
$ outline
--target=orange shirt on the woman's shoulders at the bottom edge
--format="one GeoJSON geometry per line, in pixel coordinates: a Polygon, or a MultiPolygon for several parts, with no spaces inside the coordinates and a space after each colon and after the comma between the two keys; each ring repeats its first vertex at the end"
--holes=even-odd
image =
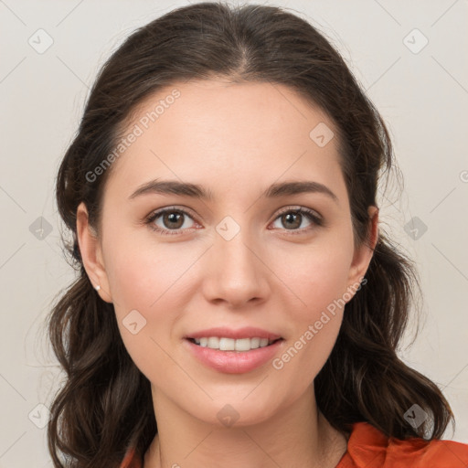
{"type": "MultiPolygon", "coordinates": [[[[418,437],[401,441],[386,437],[367,422],[356,422],[347,450],[336,468],[467,468],[468,445],[456,441],[424,441],[418,437]]],[[[143,468],[130,448],[121,468],[143,468]]]]}

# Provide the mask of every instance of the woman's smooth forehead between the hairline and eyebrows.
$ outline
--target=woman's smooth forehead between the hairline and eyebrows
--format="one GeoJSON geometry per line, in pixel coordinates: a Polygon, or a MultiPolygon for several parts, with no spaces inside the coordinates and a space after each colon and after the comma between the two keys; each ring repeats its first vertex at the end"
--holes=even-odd
{"type": "Polygon", "coordinates": [[[327,184],[341,177],[334,123],[278,83],[175,83],[147,97],[125,127],[123,138],[135,136],[112,163],[111,180],[129,195],[157,176],[210,186],[218,178],[224,189],[252,180],[266,186],[282,176],[307,174],[327,184]]]}

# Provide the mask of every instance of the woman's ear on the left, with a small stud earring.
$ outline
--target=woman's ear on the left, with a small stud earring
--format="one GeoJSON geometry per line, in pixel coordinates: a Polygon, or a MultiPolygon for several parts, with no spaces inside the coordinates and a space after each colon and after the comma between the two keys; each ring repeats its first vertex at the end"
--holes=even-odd
{"type": "Polygon", "coordinates": [[[77,239],[83,266],[91,284],[100,285],[101,289],[97,293],[103,301],[112,303],[109,280],[102,258],[101,241],[89,224],[88,209],[83,202],[77,208],[77,239]]]}

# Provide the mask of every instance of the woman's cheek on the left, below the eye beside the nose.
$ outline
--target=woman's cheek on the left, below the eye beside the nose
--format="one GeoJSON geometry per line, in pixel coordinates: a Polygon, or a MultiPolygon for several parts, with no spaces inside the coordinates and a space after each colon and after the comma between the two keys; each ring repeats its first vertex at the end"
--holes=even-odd
{"type": "MultiPolygon", "coordinates": [[[[176,243],[135,242],[122,230],[107,239],[106,245],[112,246],[105,264],[122,340],[148,377],[146,371],[154,367],[155,360],[158,366],[165,365],[162,348],[170,346],[179,313],[186,309],[187,298],[180,288],[190,281],[188,270],[199,253],[176,243]]],[[[171,365],[169,360],[167,366],[171,365]]]]}

